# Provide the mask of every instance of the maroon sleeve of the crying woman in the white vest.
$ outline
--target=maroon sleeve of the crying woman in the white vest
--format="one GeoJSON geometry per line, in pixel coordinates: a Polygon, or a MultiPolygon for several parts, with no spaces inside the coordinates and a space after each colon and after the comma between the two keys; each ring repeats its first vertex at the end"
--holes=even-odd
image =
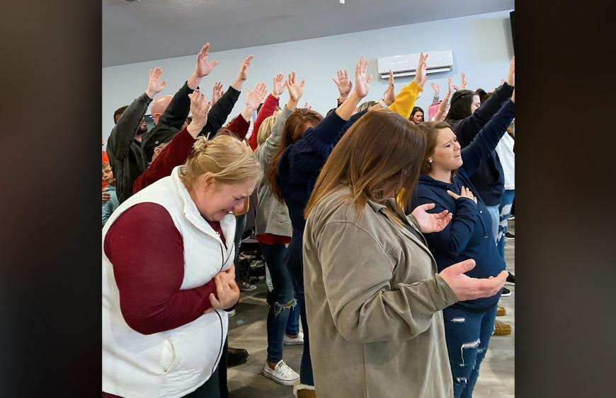
{"type": "Polygon", "coordinates": [[[105,235],[103,250],[113,264],[126,323],[142,334],[175,329],[211,308],[215,280],[180,290],[184,248],[163,206],[141,203],[122,213],[105,235]]]}

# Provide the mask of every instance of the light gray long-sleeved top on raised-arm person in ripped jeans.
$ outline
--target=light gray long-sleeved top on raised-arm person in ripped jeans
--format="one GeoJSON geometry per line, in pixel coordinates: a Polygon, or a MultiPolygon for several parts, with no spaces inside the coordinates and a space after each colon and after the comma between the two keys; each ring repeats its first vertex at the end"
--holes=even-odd
{"type": "MultiPolygon", "coordinates": [[[[263,169],[263,178],[261,178],[257,187],[256,235],[272,233],[274,235],[291,236],[293,232],[291,219],[289,218],[289,209],[287,209],[286,204],[280,203],[274,197],[268,182],[272,158],[280,147],[285,123],[291,113],[292,111],[288,110],[286,106],[283,107],[282,112],[280,112],[278,119],[276,119],[272,127],[272,134],[255,151],[255,156],[263,169]]],[[[253,134],[256,134],[256,131],[253,131],[253,134]]]]}

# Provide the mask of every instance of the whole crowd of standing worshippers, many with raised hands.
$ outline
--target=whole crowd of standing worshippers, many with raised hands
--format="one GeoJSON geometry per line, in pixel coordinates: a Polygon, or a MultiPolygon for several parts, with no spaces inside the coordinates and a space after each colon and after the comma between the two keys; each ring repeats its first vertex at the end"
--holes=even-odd
{"type": "Polygon", "coordinates": [[[209,43],[175,95],[155,98],[166,81],[149,71],[103,151],[103,397],[229,396],[227,367],[248,356],[227,332],[256,288],[239,267],[253,192],[271,281],[265,377],[300,398],[472,396],[491,336],[511,332],[496,316],[515,283],[515,59],[490,92],[462,74],[440,100],[432,84],[426,115],[427,59],[398,92],[390,72],[379,96],[360,57],[336,72],[325,116],[298,107],[295,71],[273,71],[229,122],[253,56],[211,98],[209,43]],[[286,344],[303,345],[299,369],[286,344]]]}

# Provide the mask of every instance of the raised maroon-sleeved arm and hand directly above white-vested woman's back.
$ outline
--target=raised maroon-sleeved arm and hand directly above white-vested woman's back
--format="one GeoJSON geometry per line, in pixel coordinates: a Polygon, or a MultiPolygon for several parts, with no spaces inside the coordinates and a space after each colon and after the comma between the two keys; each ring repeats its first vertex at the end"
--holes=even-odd
{"type": "Polygon", "coordinates": [[[207,122],[208,110],[210,110],[210,103],[205,101],[205,96],[200,90],[195,90],[195,92],[190,94],[190,112],[193,113],[193,122],[190,122],[186,129],[173,136],[169,144],[152,160],[149,168],[137,177],[137,180],[132,185],[133,194],[136,194],[148,185],[154,184],[154,182],[161,178],[171,175],[173,168],[186,163],[190,151],[193,150],[193,144],[195,144],[197,135],[207,122]]]}

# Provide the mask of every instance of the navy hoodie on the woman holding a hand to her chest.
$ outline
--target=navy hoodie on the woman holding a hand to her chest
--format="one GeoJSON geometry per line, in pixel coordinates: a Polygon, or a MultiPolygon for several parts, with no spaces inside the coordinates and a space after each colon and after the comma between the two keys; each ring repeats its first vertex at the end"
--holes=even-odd
{"type": "MultiPolygon", "coordinates": [[[[412,197],[412,208],[420,204],[433,203],[435,208],[430,210],[430,213],[440,213],[447,209],[453,214],[452,221],[445,229],[438,233],[426,234],[428,247],[436,260],[438,271],[465,259],[475,260],[474,269],[466,273],[473,278],[496,276],[505,269],[505,261],[494,243],[491,217],[469,177],[494,151],[513,117],[515,117],[515,105],[508,100],[479,131],[472,143],[462,149],[464,163],[457,173],[452,175],[451,183],[434,180],[426,174],[419,177],[417,191],[412,197]],[[471,189],[477,196],[477,204],[464,197],[455,200],[447,194],[447,189],[460,194],[462,185],[471,189]]],[[[499,292],[489,298],[460,301],[453,306],[464,310],[484,310],[496,305],[500,297],[499,292]]]]}

